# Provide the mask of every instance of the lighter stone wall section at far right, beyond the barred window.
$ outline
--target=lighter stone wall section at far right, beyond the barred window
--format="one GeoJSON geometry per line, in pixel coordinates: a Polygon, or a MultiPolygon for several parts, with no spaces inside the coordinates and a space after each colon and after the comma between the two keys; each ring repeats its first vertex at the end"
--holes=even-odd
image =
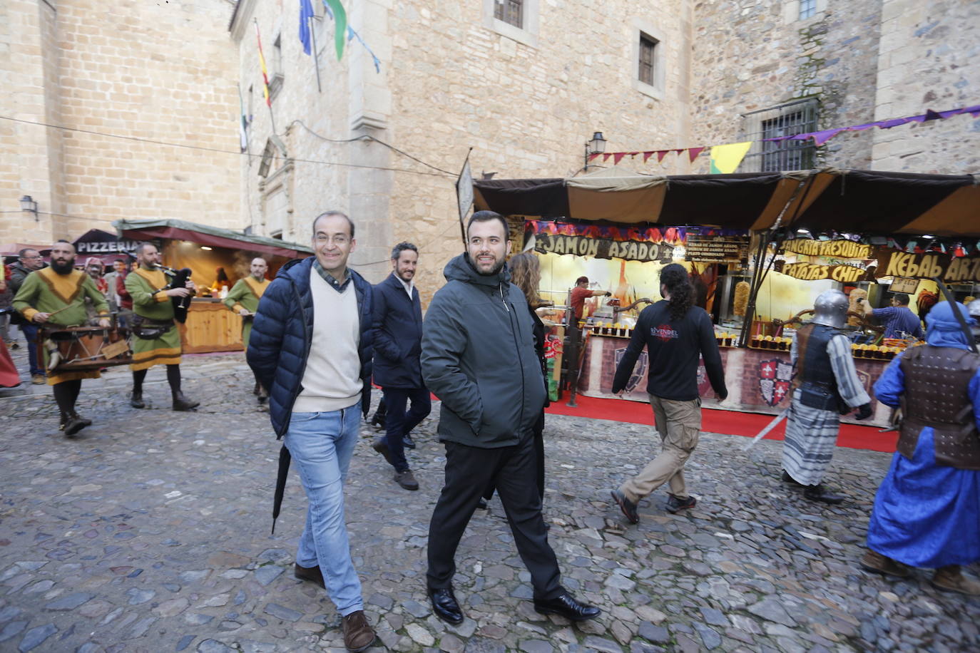
{"type": "MultiPolygon", "coordinates": [[[[885,0],[876,119],[980,103],[980,3],[885,0]]],[[[876,169],[980,172],[980,118],[969,115],[875,130],[876,169]]]]}

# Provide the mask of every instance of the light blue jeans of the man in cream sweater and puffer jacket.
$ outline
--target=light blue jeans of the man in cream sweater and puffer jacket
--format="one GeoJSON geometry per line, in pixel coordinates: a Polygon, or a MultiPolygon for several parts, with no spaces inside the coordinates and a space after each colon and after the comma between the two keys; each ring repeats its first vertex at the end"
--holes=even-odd
{"type": "Polygon", "coordinates": [[[360,426],[359,401],[343,410],[293,413],[283,440],[310,501],[296,564],[319,565],[326,593],[343,617],[364,610],[344,522],[344,480],[360,426]]]}

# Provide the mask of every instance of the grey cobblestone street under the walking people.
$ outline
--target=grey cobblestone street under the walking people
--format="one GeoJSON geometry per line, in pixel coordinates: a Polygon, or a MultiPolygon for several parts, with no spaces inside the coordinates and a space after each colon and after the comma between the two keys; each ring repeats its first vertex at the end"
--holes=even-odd
{"type": "MultiPolygon", "coordinates": [[[[14,355],[23,366],[24,348],[14,355]]],[[[129,372],[114,367],[83,383],[79,412],[94,424],[73,440],[47,386],[0,396],[0,650],[342,650],[332,604],[292,575],[306,509],[295,472],[270,536],[279,443],[244,356],[181,367],[197,411],[170,410],[160,367],[150,408],[130,408],[129,372]]],[[[780,443],[745,453],[746,439],[705,434],[685,472],[698,506],[670,515],[662,489],[629,526],[609,490],[656,453],[651,428],[563,416],[545,429],[545,516],[564,585],[603,616],[574,627],[533,611],[495,498],[457,556],[467,619],[445,625],[424,591],[437,408],[408,452],[420,490],[392,481],[367,424],[351,466],[347,521],[374,650],[980,650],[980,600],[934,589],[931,571],[893,583],[858,567],[890,454],[838,449],[827,481],[848,501],[828,507],[780,482],[780,443]]]]}

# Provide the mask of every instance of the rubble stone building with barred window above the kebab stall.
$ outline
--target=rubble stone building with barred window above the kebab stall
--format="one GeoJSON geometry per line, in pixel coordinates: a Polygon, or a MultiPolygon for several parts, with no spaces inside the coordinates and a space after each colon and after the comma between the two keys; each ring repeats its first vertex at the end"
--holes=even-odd
{"type": "MultiPolygon", "coordinates": [[[[972,0],[707,0],[694,23],[693,135],[703,144],[915,116],[980,98],[980,3],[972,0]]],[[[802,156],[803,167],[962,174],[980,171],[978,146],[980,121],[964,115],[847,132],[788,158],[802,156]]],[[[786,161],[757,144],[740,171],[786,161]]]]}

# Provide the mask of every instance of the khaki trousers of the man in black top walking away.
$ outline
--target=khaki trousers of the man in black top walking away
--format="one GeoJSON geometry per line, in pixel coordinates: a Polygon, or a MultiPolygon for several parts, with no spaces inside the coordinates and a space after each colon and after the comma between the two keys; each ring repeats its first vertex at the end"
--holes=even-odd
{"type": "Polygon", "coordinates": [[[661,434],[661,453],[642,472],[622,484],[619,490],[636,503],[664,483],[669,483],[671,494],[687,498],[684,463],[698,445],[701,435],[701,399],[675,401],[651,395],[650,405],[654,409],[657,431],[661,434]]]}

